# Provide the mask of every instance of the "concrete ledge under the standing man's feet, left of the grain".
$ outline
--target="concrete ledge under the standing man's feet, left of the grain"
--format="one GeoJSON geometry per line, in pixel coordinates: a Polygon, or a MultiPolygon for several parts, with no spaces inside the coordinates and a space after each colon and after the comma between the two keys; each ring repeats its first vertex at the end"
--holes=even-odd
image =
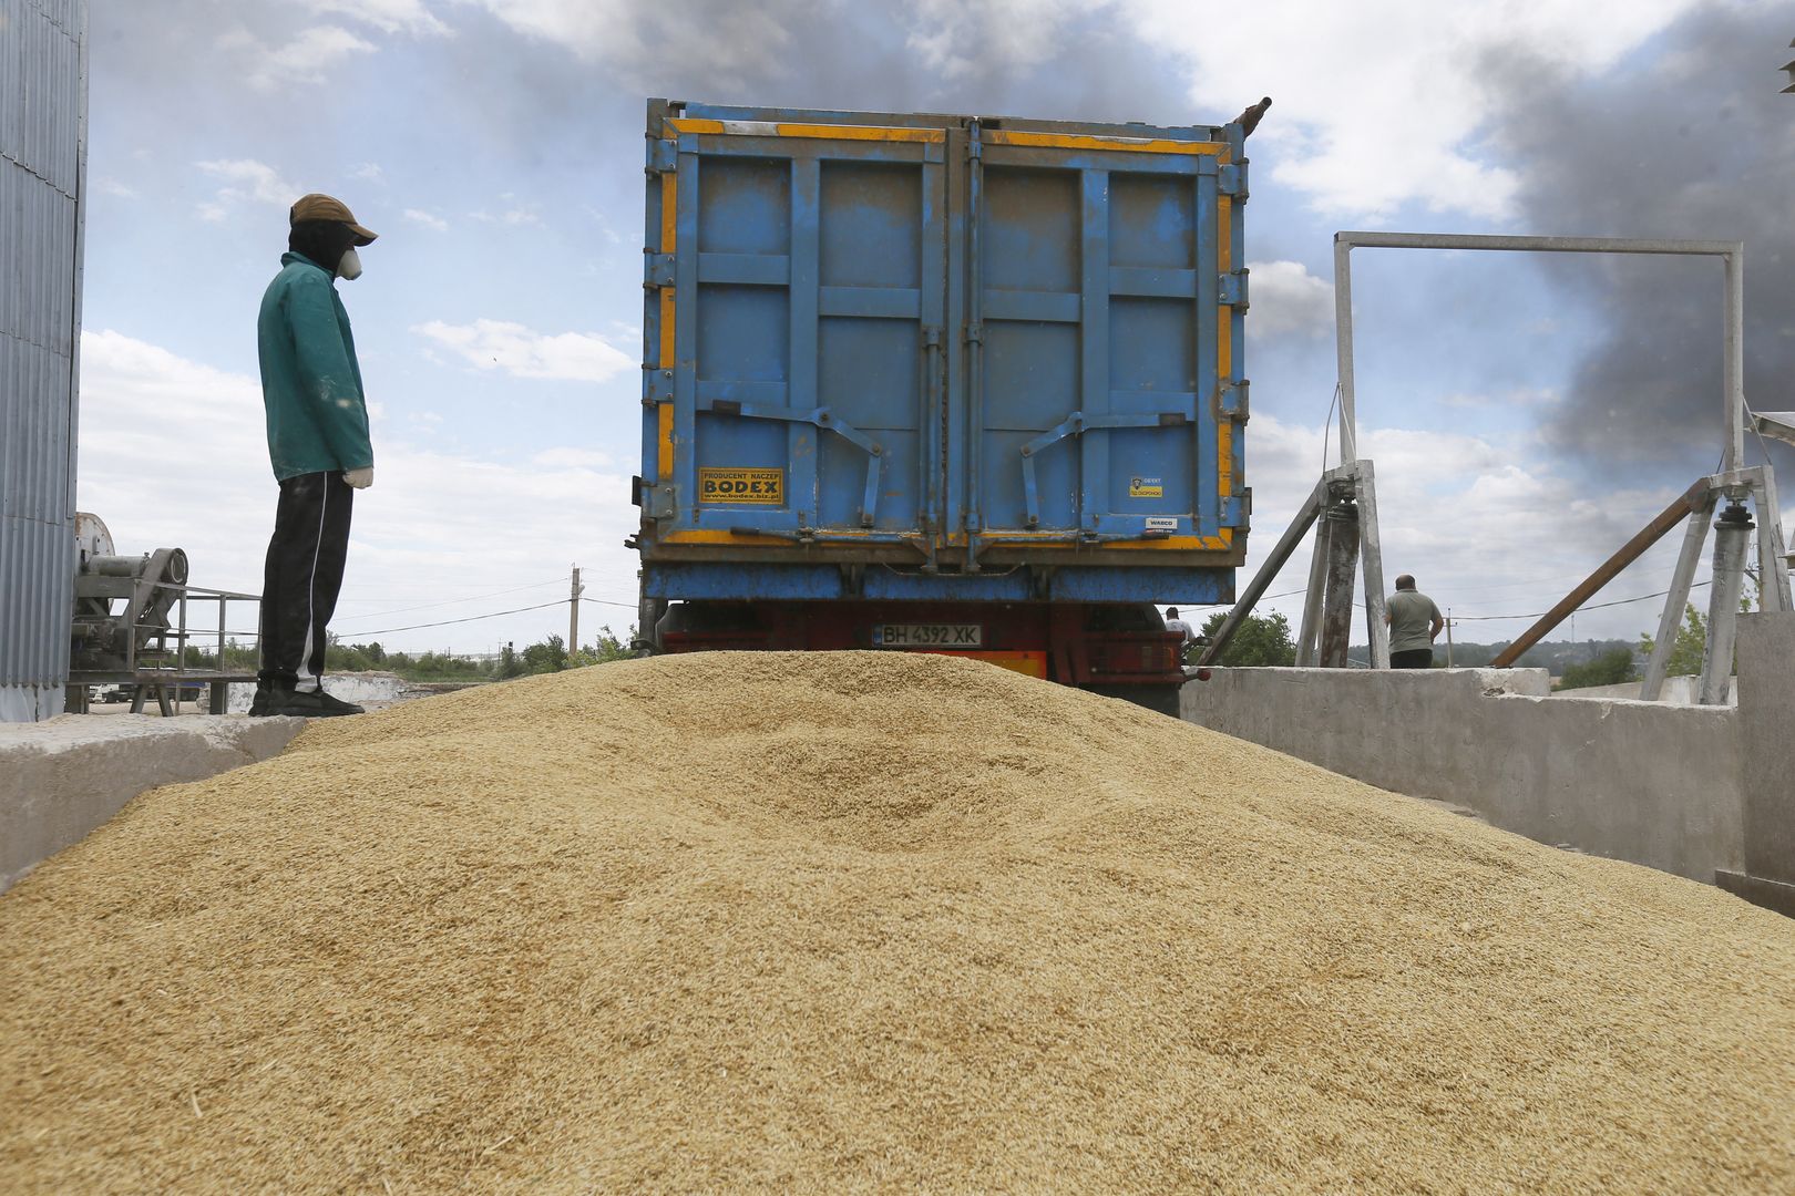
{"type": "Polygon", "coordinates": [[[0,893],[156,785],[276,755],[305,719],[65,715],[0,726],[0,893]]]}

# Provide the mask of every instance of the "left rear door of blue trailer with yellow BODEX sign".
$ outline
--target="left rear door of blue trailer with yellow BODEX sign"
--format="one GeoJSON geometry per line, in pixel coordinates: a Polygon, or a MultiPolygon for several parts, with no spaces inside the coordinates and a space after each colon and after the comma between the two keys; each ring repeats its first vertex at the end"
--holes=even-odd
{"type": "Polygon", "coordinates": [[[644,475],[679,497],[662,540],[921,545],[941,524],[946,131],[661,133],[644,475]]]}

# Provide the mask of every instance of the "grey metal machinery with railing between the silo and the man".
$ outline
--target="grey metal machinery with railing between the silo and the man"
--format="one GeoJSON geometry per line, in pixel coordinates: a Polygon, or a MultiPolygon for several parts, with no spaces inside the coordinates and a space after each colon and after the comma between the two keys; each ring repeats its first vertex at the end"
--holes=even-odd
{"type": "Polygon", "coordinates": [[[124,685],[133,690],[133,714],[144,710],[149,694],[156,696],[162,714],[172,714],[188,689],[208,685],[210,712],[224,714],[226,685],[255,680],[253,672],[223,669],[224,611],[228,602],[257,601],[257,595],[188,586],[187,552],[181,549],[118,556],[106,524],[86,511],[75,515],[75,610],[65,708],[84,714],[88,687],[124,685]],[[190,599],[217,601],[217,669],[183,667],[181,649],[190,638],[190,599]]]}

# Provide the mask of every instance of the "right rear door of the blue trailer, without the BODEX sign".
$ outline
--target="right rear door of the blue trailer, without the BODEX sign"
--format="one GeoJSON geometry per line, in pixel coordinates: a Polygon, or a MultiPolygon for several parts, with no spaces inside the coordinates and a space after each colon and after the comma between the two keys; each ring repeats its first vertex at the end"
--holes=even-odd
{"type": "MultiPolygon", "coordinates": [[[[973,549],[1226,549],[1244,307],[1226,142],[971,126],[973,549]]],[[[964,448],[964,452],[962,452],[964,448]]]]}

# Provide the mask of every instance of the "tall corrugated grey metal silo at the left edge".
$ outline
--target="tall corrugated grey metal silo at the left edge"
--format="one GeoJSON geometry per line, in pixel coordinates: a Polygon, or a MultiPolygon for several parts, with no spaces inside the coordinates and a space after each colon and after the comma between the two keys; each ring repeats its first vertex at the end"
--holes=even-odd
{"type": "Polygon", "coordinates": [[[68,680],[86,36],[86,0],[0,0],[0,721],[68,680]]]}

